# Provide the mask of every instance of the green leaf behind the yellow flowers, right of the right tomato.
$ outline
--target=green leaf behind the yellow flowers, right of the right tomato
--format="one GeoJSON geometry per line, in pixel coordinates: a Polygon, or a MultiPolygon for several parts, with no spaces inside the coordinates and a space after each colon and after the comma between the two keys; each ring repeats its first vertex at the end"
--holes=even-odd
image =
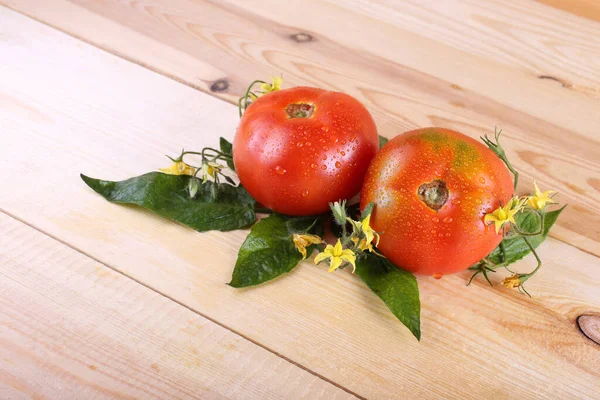
{"type": "MultiPolygon", "coordinates": [[[[548,237],[548,233],[550,232],[550,228],[556,222],[558,216],[564,210],[566,206],[561,209],[546,212],[544,216],[544,229],[542,233],[536,236],[529,236],[529,242],[533,246],[533,248],[537,248],[546,237],[548,237]]],[[[523,232],[535,233],[540,230],[540,219],[539,216],[533,211],[526,211],[519,213],[515,216],[515,222],[519,229],[523,232]]],[[[523,238],[516,234],[512,233],[509,236],[505,237],[502,240],[502,245],[504,246],[504,255],[503,259],[501,247],[498,246],[494,251],[490,253],[488,259],[494,264],[502,264],[509,265],[516,261],[519,261],[527,254],[531,253],[529,247],[523,240],[523,238]]]]}

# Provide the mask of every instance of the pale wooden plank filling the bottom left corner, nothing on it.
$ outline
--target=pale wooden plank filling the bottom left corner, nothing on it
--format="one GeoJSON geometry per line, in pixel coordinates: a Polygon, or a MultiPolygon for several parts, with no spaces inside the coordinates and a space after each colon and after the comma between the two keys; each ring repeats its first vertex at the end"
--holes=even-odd
{"type": "Polygon", "coordinates": [[[0,398],[355,398],[0,213],[0,398]]]}

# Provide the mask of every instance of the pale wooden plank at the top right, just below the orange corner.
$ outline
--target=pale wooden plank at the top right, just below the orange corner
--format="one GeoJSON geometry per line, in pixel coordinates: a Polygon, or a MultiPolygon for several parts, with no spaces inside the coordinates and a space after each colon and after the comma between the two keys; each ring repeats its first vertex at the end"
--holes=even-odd
{"type": "Polygon", "coordinates": [[[600,70],[596,67],[600,24],[596,22],[531,1],[490,0],[485,7],[476,0],[451,0],[442,6],[418,0],[331,2],[494,65],[510,67],[527,78],[553,77],[564,88],[600,99],[600,70]]]}

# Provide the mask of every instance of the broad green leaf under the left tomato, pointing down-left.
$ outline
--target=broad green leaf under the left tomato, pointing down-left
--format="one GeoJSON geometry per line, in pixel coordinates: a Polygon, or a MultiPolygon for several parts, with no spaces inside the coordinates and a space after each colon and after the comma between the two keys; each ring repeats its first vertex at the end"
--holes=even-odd
{"type": "MultiPolygon", "coordinates": [[[[315,217],[289,218],[271,214],[256,223],[238,252],[229,285],[254,286],[290,272],[302,259],[292,241],[294,232],[315,228],[315,217]]],[[[311,248],[307,248],[310,254],[311,248]]]]}

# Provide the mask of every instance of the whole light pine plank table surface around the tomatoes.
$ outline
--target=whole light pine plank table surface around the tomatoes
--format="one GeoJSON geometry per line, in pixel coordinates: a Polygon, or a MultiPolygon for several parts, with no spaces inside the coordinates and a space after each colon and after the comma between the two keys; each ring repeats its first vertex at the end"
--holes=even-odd
{"type": "Polygon", "coordinates": [[[576,323],[600,313],[598,1],[0,4],[0,398],[600,399],[576,323]],[[231,139],[232,103],[279,73],[357,97],[386,137],[503,128],[519,191],[535,178],[569,204],[533,298],[419,278],[419,343],[349,271],[235,290],[247,232],[79,179],[231,139]]]}

